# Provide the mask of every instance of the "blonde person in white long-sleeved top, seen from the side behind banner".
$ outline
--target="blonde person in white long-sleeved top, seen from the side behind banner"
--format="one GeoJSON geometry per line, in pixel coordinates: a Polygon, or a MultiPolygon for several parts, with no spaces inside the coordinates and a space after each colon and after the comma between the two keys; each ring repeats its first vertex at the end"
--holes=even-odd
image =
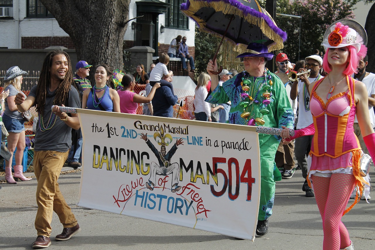
{"type": "Polygon", "coordinates": [[[198,84],[195,88],[195,98],[194,98],[194,115],[196,120],[202,120],[211,122],[211,107],[208,102],[204,100],[207,97],[207,84],[210,81],[210,75],[202,72],[198,76],[198,84]]]}

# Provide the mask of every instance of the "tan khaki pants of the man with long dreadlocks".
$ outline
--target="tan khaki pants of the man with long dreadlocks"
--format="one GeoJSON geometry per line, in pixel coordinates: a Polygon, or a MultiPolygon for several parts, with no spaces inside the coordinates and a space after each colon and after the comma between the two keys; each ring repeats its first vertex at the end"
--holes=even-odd
{"type": "Polygon", "coordinates": [[[64,227],[74,227],[77,220],[58,187],[60,171],[68,157],[67,152],[36,151],[34,154],[34,173],[38,181],[36,203],[38,211],[35,218],[37,235],[51,235],[53,211],[64,227]]]}

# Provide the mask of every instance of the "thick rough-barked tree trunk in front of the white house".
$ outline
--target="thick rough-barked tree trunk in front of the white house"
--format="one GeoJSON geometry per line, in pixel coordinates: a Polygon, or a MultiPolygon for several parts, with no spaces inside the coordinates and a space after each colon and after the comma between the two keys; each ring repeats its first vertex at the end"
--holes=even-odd
{"type": "Polygon", "coordinates": [[[123,68],[123,38],[127,29],[130,0],[40,2],[72,39],[78,60],[85,60],[92,65],[107,63],[113,69],[123,68]]]}

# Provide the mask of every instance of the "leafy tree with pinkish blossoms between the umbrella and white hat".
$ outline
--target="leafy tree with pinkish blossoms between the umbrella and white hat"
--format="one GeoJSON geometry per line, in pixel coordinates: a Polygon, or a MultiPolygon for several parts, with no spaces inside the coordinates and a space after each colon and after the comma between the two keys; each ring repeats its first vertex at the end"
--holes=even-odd
{"type": "Polygon", "coordinates": [[[327,27],[336,20],[353,18],[353,8],[356,2],[358,1],[278,0],[277,13],[302,17],[299,19],[276,16],[276,24],[288,34],[282,52],[286,53],[292,61],[297,62],[299,59],[314,54],[315,49],[324,50],[320,44],[327,27]]]}

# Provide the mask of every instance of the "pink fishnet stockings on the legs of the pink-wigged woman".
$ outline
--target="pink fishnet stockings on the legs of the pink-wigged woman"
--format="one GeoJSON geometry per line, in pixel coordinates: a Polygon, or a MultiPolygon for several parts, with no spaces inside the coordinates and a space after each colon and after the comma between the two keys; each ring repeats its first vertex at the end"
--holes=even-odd
{"type": "Polygon", "coordinates": [[[315,199],[323,220],[323,250],[338,250],[350,245],[342,213],[354,188],[354,176],[336,173],[330,178],[312,175],[315,199]]]}

